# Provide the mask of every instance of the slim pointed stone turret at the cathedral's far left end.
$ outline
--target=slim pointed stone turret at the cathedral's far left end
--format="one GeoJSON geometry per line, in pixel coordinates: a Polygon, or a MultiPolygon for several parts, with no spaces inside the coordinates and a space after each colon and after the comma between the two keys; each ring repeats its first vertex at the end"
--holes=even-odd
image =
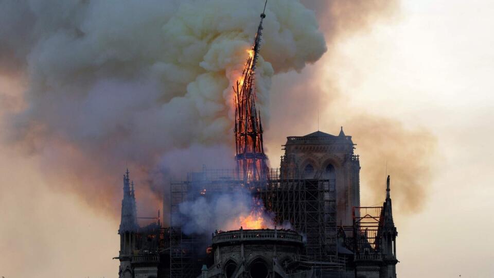
{"type": "Polygon", "coordinates": [[[131,262],[138,228],[134,182],[130,183],[129,169],[127,169],[125,175],[123,175],[122,213],[120,228],[118,229],[118,234],[120,235],[120,252],[118,256],[120,268],[118,277],[120,278],[132,278],[134,276],[131,262]]]}

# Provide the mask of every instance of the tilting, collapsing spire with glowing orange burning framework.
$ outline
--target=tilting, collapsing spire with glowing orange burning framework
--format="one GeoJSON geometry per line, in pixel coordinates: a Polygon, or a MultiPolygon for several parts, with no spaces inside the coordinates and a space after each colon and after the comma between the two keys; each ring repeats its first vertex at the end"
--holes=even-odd
{"type": "Polygon", "coordinates": [[[262,125],[260,112],[256,110],[254,77],[257,57],[262,36],[262,20],[266,18],[266,5],[261,13],[261,21],[257,28],[256,37],[252,49],[248,50],[249,57],[242,71],[242,76],[237,80],[235,92],[235,142],[237,172],[244,183],[250,181],[267,180],[268,157],[264,154],[262,146],[262,125]]]}

